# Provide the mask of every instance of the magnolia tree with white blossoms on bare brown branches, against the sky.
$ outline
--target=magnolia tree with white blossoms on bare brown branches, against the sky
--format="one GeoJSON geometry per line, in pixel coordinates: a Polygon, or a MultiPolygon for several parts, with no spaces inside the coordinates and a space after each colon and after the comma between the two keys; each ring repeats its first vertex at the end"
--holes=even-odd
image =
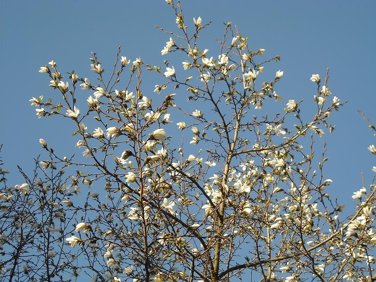
{"type": "Polygon", "coordinates": [[[283,71],[267,63],[279,56],[251,51],[231,23],[217,51],[201,47],[210,22],[166,2],[178,31],[160,28],[171,36],[161,52],[179,65],[131,62],[119,48],[107,76],[93,53],[97,80],[41,67],[60,96],[31,104],[38,118],[69,118],[86,158],[40,139],[47,153],[33,177],[15,187],[3,177],[0,281],[376,280],[375,186],[342,215],[326,192],[325,145],[314,155],[342,105],[328,75],[310,78],[313,118],[294,100],[272,114],[283,71]]]}

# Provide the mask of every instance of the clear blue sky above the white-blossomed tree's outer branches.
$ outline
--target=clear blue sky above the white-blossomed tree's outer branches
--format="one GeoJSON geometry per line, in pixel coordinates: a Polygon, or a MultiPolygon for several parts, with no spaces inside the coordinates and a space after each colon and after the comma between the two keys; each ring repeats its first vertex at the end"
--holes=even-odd
{"type": "MultiPolygon", "coordinates": [[[[328,142],[327,176],[333,180],[328,192],[351,203],[352,192],[361,187],[361,172],[369,184],[376,166],[367,150],[376,140],[357,113],[364,111],[376,123],[376,2],[182,0],[182,7],[186,21],[198,16],[204,22],[213,20],[202,38],[209,49],[222,37],[223,22],[230,21],[249,36],[254,49],[265,48],[270,57],[281,55],[281,62],[269,67],[284,71],[277,87],[284,104],[305,99],[312,105],[315,85],[309,78],[313,73],[324,77],[329,68],[332,95],[348,103],[331,117],[336,130],[318,142],[328,142]]],[[[32,159],[43,153],[39,138],[59,152],[78,153],[75,142],[64,138],[71,135],[67,123],[61,118],[38,119],[30,106],[32,96],[57,95],[39,68],[53,59],[61,72],[74,69],[86,77],[92,75],[91,51],[111,66],[119,45],[121,55],[131,61],[140,56],[162,66],[167,57],[161,56],[161,49],[169,36],[154,24],[175,27],[164,0],[0,1],[0,143],[11,172],[9,185],[19,184],[17,164],[31,172],[32,159]]],[[[154,84],[150,81],[151,88],[154,84]]]]}

